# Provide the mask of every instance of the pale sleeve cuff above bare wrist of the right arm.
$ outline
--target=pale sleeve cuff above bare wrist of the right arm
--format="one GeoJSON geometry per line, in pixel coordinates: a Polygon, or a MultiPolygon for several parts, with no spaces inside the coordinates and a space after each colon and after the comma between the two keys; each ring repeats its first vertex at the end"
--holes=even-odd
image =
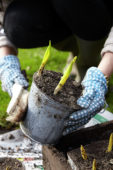
{"type": "Polygon", "coordinates": [[[104,47],[101,51],[101,56],[103,56],[106,52],[113,53],[113,27],[111,28],[108,38],[105,41],[104,47]]]}

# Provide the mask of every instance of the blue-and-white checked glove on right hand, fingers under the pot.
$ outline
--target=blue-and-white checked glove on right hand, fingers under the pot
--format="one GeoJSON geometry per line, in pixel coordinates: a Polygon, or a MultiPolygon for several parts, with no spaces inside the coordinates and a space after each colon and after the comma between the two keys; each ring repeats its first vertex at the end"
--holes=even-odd
{"type": "Polygon", "coordinates": [[[95,116],[105,103],[107,81],[104,74],[96,67],[88,69],[84,80],[83,95],[77,100],[77,104],[83,109],[72,113],[65,122],[63,135],[67,135],[86,124],[95,116]]]}

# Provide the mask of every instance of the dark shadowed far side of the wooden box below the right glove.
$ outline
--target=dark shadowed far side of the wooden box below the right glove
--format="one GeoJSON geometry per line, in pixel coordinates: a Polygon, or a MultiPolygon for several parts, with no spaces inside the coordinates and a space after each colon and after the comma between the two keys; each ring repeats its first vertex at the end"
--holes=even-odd
{"type": "Polygon", "coordinates": [[[67,153],[80,145],[87,145],[92,142],[106,140],[113,132],[113,120],[97,124],[88,128],[79,129],[71,134],[63,136],[56,144],[59,151],[67,153]]]}

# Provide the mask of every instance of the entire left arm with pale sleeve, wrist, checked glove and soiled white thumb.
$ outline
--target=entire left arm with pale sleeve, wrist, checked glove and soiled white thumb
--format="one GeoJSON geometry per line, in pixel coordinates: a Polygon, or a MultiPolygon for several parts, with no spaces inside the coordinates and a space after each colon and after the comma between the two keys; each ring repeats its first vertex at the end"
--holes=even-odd
{"type": "Polygon", "coordinates": [[[29,92],[24,87],[28,87],[28,82],[21,74],[17,49],[2,33],[0,33],[0,80],[2,89],[11,96],[7,108],[9,116],[6,120],[19,122],[27,109],[29,92]]]}

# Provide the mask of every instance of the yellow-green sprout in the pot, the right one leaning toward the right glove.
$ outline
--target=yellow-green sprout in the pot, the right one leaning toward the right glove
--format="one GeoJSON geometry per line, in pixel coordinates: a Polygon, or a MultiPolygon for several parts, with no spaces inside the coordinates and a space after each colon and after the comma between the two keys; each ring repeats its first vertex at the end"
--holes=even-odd
{"type": "Polygon", "coordinates": [[[65,84],[66,80],[68,79],[68,77],[69,77],[69,75],[71,73],[71,70],[72,70],[72,66],[75,63],[76,59],[77,59],[77,57],[73,58],[73,60],[71,61],[71,63],[67,67],[64,75],[61,77],[61,80],[60,80],[59,84],[57,85],[57,87],[54,90],[55,95],[61,90],[62,86],[65,84]]]}

